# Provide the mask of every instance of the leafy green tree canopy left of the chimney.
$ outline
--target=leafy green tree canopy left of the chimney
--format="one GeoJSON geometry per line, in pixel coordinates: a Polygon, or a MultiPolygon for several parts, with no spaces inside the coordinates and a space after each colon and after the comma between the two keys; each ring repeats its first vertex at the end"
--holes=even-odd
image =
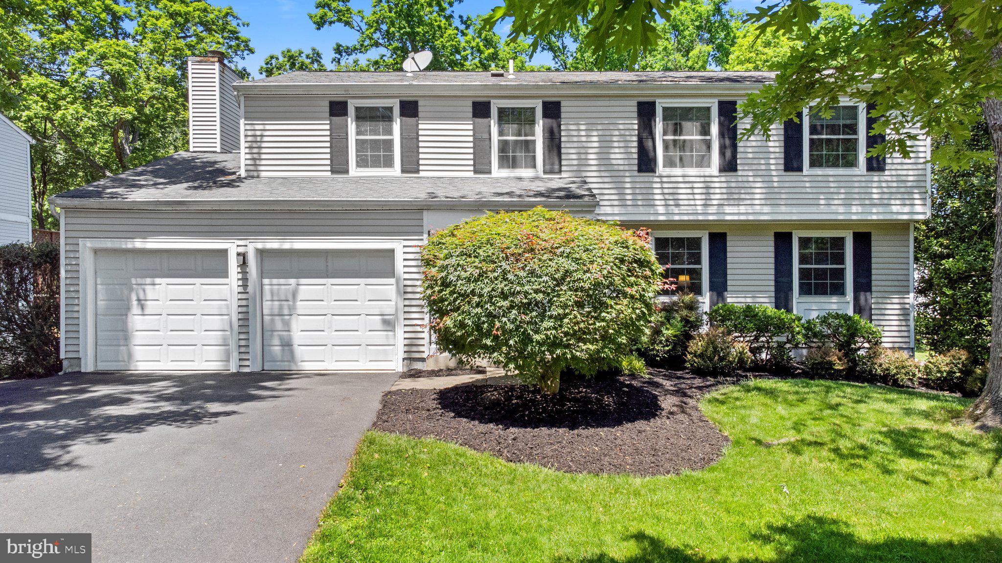
{"type": "Polygon", "coordinates": [[[0,16],[0,111],[35,138],[45,197],[187,146],[185,59],[250,51],[231,8],[186,0],[20,0],[0,16]]]}

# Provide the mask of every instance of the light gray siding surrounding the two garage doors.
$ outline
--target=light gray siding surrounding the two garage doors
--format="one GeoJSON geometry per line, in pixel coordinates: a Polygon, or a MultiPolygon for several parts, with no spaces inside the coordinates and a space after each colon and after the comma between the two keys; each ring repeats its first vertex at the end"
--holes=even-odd
{"type": "MultiPolygon", "coordinates": [[[[273,238],[363,239],[404,241],[404,358],[427,355],[424,308],[421,304],[419,245],[424,240],[421,211],[99,211],[64,209],[63,288],[64,359],[80,358],[80,239],[81,238],[205,238],[237,241],[245,251],[248,240],[273,238]]],[[[249,370],[249,302],[247,268],[237,270],[237,326],[240,370],[249,370]]]]}

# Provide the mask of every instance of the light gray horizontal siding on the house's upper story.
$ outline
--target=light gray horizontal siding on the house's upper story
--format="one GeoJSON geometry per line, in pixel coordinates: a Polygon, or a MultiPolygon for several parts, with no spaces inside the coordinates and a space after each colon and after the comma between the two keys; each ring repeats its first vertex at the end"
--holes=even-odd
{"type": "MultiPolygon", "coordinates": [[[[246,95],[244,99],[248,175],[330,175],[328,101],[344,96],[246,95]]],[[[490,98],[415,99],[421,174],[472,175],[471,102],[490,98]]],[[[783,127],[778,125],[769,140],[755,135],[738,142],[736,173],[640,174],[636,171],[638,99],[655,97],[591,95],[561,100],[563,175],[588,180],[600,201],[596,212],[603,218],[919,220],[926,216],[924,140],[912,143],[910,159],[889,157],[885,172],[784,172],[783,127]]]]}

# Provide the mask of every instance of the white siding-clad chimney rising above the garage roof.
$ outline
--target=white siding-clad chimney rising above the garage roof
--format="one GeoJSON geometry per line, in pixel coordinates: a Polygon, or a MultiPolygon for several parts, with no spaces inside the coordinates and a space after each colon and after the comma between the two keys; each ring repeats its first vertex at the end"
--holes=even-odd
{"type": "Polygon", "coordinates": [[[222,62],[225,58],[221,51],[188,57],[188,149],[191,151],[240,149],[240,108],[232,88],[240,77],[222,62]]]}

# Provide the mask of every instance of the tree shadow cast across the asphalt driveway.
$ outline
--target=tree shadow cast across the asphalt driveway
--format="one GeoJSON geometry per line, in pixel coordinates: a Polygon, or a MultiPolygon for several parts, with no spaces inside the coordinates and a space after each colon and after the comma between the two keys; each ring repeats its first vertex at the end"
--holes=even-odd
{"type": "Polygon", "coordinates": [[[295,391],[300,374],[71,374],[0,385],[0,475],[82,467],[70,449],[192,428],[295,391]]]}

